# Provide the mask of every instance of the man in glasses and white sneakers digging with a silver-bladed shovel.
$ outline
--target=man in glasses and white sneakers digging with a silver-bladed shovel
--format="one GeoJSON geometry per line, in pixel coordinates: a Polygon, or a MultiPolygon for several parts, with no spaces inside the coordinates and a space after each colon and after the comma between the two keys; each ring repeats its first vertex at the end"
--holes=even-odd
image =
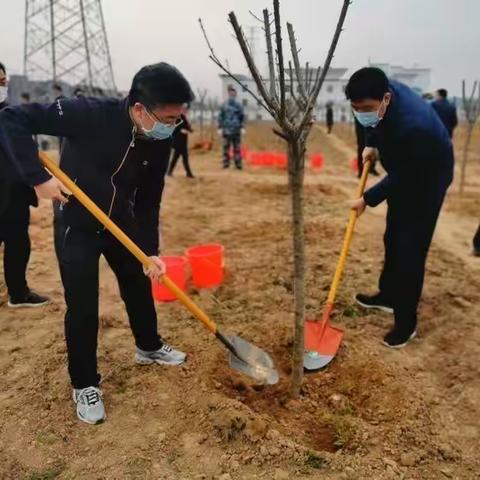
{"type": "Polygon", "coordinates": [[[190,85],[173,66],[142,68],[127,98],[61,99],[51,105],[7,109],[0,122],[27,181],[41,198],[54,199],[55,247],[65,290],[65,335],[77,415],[86,423],[105,419],[97,372],[98,261],[114,271],[135,337],[139,364],[179,365],[186,355],[157,333],[150,281],[165,271],[158,258],[159,207],[168,168],[170,136],[190,85]],[[33,134],[64,137],[61,168],[150,256],[139,262],[41,167],[33,134]],[[143,274],[145,273],[145,275],[143,274]]]}

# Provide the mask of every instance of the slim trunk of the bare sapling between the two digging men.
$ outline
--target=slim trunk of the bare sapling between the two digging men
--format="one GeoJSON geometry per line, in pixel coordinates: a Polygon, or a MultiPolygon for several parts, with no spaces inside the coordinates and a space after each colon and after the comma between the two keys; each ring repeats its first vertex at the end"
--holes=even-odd
{"type": "Polygon", "coordinates": [[[305,232],[303,217],[303,178],[305,145],[301,141],[288,145],[288,174],[292,198],[295,336],[292,352],[290,395],[298,397],[303,380],[305,321],[305,232]]]}

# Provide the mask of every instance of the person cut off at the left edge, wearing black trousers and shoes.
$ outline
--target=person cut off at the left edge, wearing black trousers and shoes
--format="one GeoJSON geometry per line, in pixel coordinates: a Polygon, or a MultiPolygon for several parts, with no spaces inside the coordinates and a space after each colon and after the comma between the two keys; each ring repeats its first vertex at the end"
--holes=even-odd
{"type": "MultiPolygon", "coordinates": [[[[8,87],[5,66],[0,64],[0,89],[6,92],[8,87]]],[[[8,107],[7,96],[2,95],[0,110],[8,107]]],[[[2,132],[2,137],[5,134],[2,132]]],[[[11,155],[7,139],[2,145],[3,156],[11,155]]],[[[12,167],[9,168],[12,170],[12,167]]],[[[3,271],[8,290],[7,306],[10,308],[40,307],[49,302],[31,290],[27,284],[27,266],[30,259],[30,205],[38,206],[37,196],[31,187],[18,181],[19,170],[14,169],[12,177],[0,178],[0,245],[4,245],[3,271]]],[[[5,170],[7,171],[7,169],[5,170]]]]}

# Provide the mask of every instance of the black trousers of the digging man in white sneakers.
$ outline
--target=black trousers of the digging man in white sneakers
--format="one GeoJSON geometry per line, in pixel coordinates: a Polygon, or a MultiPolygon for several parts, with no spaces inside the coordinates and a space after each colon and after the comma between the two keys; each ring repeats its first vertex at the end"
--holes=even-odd
{"type": "Polygon", "coordinates": [[[117,277],[135,344],[153,351],[162,346],[150,280],[126,248],[106,231],[68,228],[55,220],[55,250],[65,291],[68,371],[74,388],[98,386],[98,275],[103,255],[117,277]]]}

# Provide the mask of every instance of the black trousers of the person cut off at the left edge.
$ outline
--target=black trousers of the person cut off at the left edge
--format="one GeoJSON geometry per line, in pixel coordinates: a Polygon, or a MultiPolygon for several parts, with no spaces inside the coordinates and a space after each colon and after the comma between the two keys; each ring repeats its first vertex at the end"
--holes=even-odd
{"type": "Polygon", "coordinates": [[[26,273],[30,259],[30,208],[26,203],[15,205],[14,208],[15,212],[4,212],[0,218],[0,245],[4,244],[3,271],[8,295],[13,301],[22,301],[28,291],[26,273]]]}

